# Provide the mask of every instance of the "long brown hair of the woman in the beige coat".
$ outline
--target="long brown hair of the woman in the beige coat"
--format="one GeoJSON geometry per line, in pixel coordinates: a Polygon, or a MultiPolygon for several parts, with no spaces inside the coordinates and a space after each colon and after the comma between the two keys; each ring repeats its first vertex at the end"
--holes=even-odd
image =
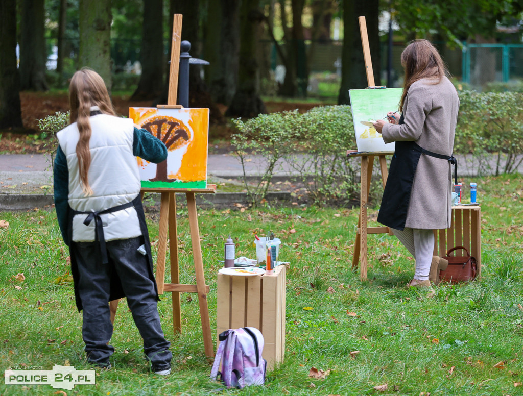
{"type": "Polygon", "coordinates": [[[405,68],[403,95],[400,100],[400,112],[403,112],[408,88],[422,78],[434,78],[434,84],[448,75],[438,50],[428,40],[413,40],[401,53],[401,64],[405,68]]]}

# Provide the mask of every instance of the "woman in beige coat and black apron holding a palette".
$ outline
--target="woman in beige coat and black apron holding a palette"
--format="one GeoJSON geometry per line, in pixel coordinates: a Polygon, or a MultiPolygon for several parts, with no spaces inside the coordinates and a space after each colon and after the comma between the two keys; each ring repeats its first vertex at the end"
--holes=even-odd
{"type": "Polygon", "coordinates": [[[451,221],[451,164],[459,110],[456,88],[436,48],[427,40],[412,41],[401,54],[405,68],[399,112],[389,123],[373,126],[385,143],[395,142],[378,222],[391,228],[416,260],[409,286],[438,282],[448,262],[434,251],[434,229],[451,221]],[[401,117],[399,117],[401,114],[401,117]]]}

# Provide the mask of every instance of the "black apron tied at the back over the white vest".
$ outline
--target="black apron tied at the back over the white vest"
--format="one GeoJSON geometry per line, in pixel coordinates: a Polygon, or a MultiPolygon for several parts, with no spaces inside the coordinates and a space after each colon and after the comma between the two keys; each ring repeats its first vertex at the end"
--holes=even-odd
{"type": "MultiPolygon", "coordinates": [[[[138,214],[138,220],[140,222],[140,230],[142,231],[143,236],[143,243],[145,244],[145,252],[147,257],[147,268],[146,271],[148,272],[147,275],[149,275],[149,278],[153,281],[154,284],[154,292],[156,294],[156,299],[160,301],[160,298],[158,297],[158,289],[156,286],[156,281],[154,279],[154,271],[153,271],[153,257],[151,254],[151,243],[149,240],[149,230],[147,230],[147,224],[145,223],[145,213],[143,212],[143,206],[142,206],[142,200],[140,197],[140,194],[132,200],[131,202],[128,202],[123,205],[115,206],[112,208],[109,208],[105,211],[101,212],[77,212],[73,211],[72,209],[69,211],[69,240],[70,240],[70,248],[69,252],[71,255],[71,275],[73,276],[74,281],[74,296],[76,298],[76,307],[78,308],[78,311],[82,310],[82,300],[80,299],[79,293],[78,293],[78,281],[79,281],[79,273],[78,273],[78,264],[75,258],[74,249],[72,249],[73,242],[72,234],[73,234],[73,216],[77,214],[86,214],[87,217],[84,221],[84,224],[89,224],[90,221],[96,222],[96,228],[95,228],[95,243],[99,243],[100,246],[100,252],[101,257],[104,262],[104,265],[111,265],[112,268],[114,268],[114,264],[111,261],[110,257],[107,257],[107,250],[105,247],[105,238],[104,238],[104,228],[101,224],[101,219],[99,217],[100,214],[107,214],[111,212],[117,212],[119,210],[125,209],[127,207],[134,206],[134,209],[136,210],[138,214]]],[[[123,279],[125,281],[125,279],[123,279]]],[[[116,271],[112,271],[111,273],[111,279],[110,279],[110,292],[109,292],[109,301],[116,300],[119,298],[125,297],[125,293],[122,289],[121,279],[120,276],[116,271]]]]}

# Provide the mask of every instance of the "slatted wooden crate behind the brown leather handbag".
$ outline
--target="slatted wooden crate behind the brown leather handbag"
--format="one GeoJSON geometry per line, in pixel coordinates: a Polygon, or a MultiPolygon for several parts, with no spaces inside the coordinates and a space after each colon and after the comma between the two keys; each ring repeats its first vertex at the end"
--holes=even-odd
{"type": "MultiPolygon", "coordinates": [[[[481,275],[481,208],[480,206],[452,206],[450,228],[434,231],[434,254],[447,255],[454,246],[464,246],[477,261],[477,277],[481,275]]],[[[462,250],[451,255],[465,254],[462,250]]]]}

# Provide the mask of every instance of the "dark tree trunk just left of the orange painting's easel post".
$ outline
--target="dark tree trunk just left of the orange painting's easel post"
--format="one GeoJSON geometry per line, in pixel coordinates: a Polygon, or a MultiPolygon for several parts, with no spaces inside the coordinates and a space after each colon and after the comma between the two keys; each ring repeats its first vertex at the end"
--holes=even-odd
{"type": "Polygon", "coordinates": [[[132,100],[156,99],[164,87],[163,0],[147,0],[143,9],[142,75],[132,100]]]}

